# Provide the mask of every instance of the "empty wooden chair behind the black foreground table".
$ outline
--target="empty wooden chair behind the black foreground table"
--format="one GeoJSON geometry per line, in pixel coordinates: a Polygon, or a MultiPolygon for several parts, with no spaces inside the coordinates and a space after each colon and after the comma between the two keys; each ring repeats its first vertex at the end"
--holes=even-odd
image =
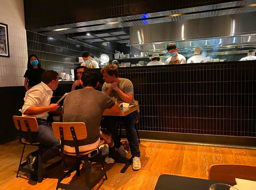
{"type": "Polygon", "coordinates": [[[236,183],[235,178],[256,181],[256,166],[240,164],[213,164],[210,166],[210,180],[236,183]]]}

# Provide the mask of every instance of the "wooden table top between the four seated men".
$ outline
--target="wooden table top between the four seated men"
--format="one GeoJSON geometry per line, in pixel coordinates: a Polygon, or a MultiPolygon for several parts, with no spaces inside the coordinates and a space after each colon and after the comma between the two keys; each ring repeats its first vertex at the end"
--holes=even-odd
{"type": "MultiPolygon", "coordinates": [[[[133,111],[136,111],[139,109],[138,105],[132,105],[130,107],[124,107],[123,109],[120,110],[120,112],[114,112],[111,111],[109,109],[106,109],[103,112],[103,115],[111,115],[111,116],[125,116],[128,115],[130,113],[132,113],[133,111]]],[[[62,114],[62,109],[58,109],[56,111],[49,111],[49,114],[62,114]]]]}

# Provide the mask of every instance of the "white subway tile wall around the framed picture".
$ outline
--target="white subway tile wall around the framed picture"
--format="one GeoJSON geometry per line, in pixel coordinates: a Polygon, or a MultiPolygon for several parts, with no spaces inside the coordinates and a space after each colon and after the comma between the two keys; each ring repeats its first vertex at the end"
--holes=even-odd
{"type": "Polygon", "coordinates": [[[23,0],[0,0],[0,23],[8,25],[10,57],[0,57],[0,87],[23,86],[27,37],[23,0]]]}

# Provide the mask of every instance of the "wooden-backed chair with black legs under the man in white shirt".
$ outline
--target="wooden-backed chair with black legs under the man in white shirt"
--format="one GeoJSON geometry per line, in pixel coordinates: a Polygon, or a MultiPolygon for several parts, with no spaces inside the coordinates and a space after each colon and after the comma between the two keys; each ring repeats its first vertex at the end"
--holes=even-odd
{"type": "MultiPolygon", "coordinates": [[[[23,151],[20,157],[19,168],[17,171],[16,178],[18,178],[19,171],[26,172],[32,174],[32,172],[26,168],[25,166],[28,164],[27,161],[22,163],[22,157],[24,154],[24,150],[26,145],[36,146],[38,147],[38,169],[37,169],[37,177],[38,182],[41,183],[43,180],[43,167],[42,167],[42,146],[40,142],[34,142],[32,138],[32,132],[35,132],[38,129],[37,119],[35,117],[21,117],[21,116],[13,116],[13,121],[15,124],[15,128],[19,130],[19,142],[23,144],[23,151]],[[26,135],[26,138],[24,136],[26,135]]],[[[54,163],[50,166],[44,168],[45,170],[49,170],[60,163],[54,163]]]]}

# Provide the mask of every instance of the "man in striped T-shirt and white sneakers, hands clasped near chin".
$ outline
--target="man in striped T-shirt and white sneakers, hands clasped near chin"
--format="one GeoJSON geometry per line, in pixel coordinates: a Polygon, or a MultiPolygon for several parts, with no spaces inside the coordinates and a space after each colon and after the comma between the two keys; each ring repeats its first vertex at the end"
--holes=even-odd
{"type": "MultiPolygon", "coordinates": [[[[119,78],[117,67],[114,65],[107,65],[101,69],[101,73],[103,75],[103,80],[105,80],[105,83],[102,87],[102,92],[106,93],[110,97],[116,97],[118,101],[123,101],[131,105],[135,105],[132,82],[128,79],[119,78]]],[[[106,128],[112,134],[114,147],[117,148],[117,151],[121,156],[126,157],[127,151],[124,149],[123,145],[121,145],[121,139],[118,135],[118,129],[116,125],[117,122],[124,123],[133,158],[132,168],[133,170],[140,170],[140,149],[138,136],[135,129],[135,122],[138,120],[138,110],[122,117],[107,116],[105,117],[105,120],[106,128]]],[[[109,156],[105,159],[106,163],[114,162],[114,155],[111,155],[111,152],[114,151],[109,151],[109,156]]]]}

